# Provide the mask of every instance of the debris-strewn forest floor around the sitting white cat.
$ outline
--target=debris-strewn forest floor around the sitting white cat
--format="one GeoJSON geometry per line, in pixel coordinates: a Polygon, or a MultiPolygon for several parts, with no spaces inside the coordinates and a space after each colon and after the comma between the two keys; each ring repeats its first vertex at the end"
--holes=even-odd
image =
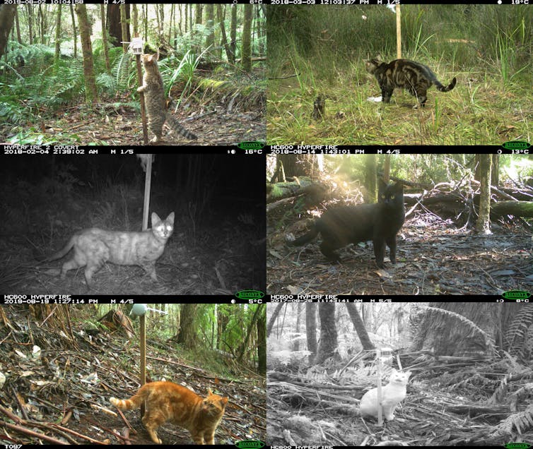
{"type": "MultiPolygon", "coordinates": [[[[384,419],[382,425],[363,419],[358,407],[358,398],[375,387],[375,374],[368,376],[371,366],[346,369],[346,362],[332,362],[327,371],[311,366],[307,374],[302,366],[276,371],[269,366],[269,444],[487,447],[532,441],[532,407],[524,397],[518,407],[510,405],[513,400],[505,395],[527,383],[518,375],[507,385],[513,376],[502,376],[514,357],[492,363],[483,357],[456,357],[447,363],[423,352],[411,356],[418,358],[411,357],[416,373],[409,379],[406,399],[394,420],[384,419]],[[344,376],[339,378],[339,372],[344,376]]],[[[402,357],[404,366],[409,366],[408,359],[402,357]]]]}

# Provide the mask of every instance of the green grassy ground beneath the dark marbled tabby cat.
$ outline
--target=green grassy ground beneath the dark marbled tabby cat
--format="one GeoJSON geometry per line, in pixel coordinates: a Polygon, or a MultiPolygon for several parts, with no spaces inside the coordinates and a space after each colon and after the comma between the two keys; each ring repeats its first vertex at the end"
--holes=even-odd
{"type": "MultiPolygon", "coordinates": [[[[295,58],[291,61],[294,64],[295,58]]],[[[295,72],[305,75],[269,81],[268,143],[499,145],[508,140],[533,140],[530,85],[513,79],[503,83],[498,67],[493,72],[487,68],[465,72],[426,58],[421,61],[444,85],[457,77],[450,92],[430,88],[425,109],[412,109],[416,98],[401,89],[394,90],[390,104],[369,102],[368,97],[380,95],[380,88],[364,71],[362,59],[344,69],[329,65],[327,80],[318,73],[324,66],[295,65],[295,72]],[[319,93],[327,97],[326,119],[313,121],[312,105],[319,93]],[[338,112],[344,116],[336,118],[338,112]]]]}

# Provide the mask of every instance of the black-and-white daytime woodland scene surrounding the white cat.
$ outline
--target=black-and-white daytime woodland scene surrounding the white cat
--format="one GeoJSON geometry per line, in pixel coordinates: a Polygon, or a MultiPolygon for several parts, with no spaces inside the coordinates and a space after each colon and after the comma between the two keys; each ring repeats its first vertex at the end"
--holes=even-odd
{"type": "Polygon", "coordinates": [[[267,320],[271,445],[532,441],[529,304],[270,304],[267,320]],[[392,369],[411,371],[396,417],[361,418],[392,369]]]}

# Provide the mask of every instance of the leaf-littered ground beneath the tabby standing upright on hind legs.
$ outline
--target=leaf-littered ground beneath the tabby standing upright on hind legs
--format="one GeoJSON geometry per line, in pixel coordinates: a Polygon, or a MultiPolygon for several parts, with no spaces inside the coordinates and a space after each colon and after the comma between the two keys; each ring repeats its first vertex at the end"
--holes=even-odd
{"type": "MultiPolygon", "coordinates": [[[[215,107],[194,114],[188,119],[174,114],[188,131],[198,136],[189,140],[163,127],[163,141],[158,145],[237,145],[244,141],[266,141],[264,112],[261,110],[228,112],[215,107]]],[[[28,124],[16,136],[0,130],[1,143],[23,145],[144,145],[141,116],[133,107],[124,104],[98,103],[92,109],[79,104],[57,112],[40,124],[28,124]]],[[[154,137],[148,129],[148,141],[154,137]]]]}

